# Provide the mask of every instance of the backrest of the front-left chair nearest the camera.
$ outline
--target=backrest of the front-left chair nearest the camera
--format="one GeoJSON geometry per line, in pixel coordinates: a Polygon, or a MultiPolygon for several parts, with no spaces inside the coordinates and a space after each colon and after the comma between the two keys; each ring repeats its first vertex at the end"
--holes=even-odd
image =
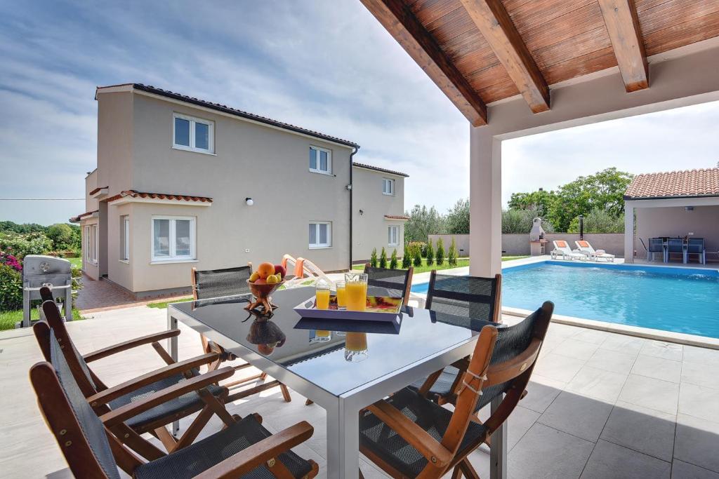
{"type": "Polygon", "coordinates": [[[119,479],[105,427],[75,382],[52,330],[50,355],[52,363],[30,368],[30,381],[70,470],[77,478],[119,479]]]}

